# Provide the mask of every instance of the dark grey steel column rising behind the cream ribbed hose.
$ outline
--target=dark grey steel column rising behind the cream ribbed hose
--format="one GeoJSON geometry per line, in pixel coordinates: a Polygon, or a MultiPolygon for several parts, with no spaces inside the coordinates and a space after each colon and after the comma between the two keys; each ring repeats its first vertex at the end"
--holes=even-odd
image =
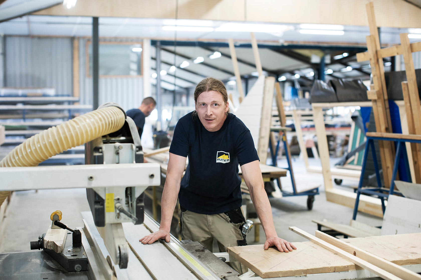
{"type": "Polygon", "coordinates": [[[92,94],[93,110],[98,109],[98,85],[99,85],[99,33],[98,18],[92,18],[92,94]]]}

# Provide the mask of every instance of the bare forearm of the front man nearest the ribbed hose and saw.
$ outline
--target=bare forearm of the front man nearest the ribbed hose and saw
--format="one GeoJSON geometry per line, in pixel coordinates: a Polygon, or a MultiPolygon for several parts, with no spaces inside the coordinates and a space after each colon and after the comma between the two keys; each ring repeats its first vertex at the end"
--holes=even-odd
{"type": "Polygon", "coordinates": [[[168,178],[165,181],[161,198],[161,223],[160,229],[170,230],[173,219],[174,208],[177,203],[177,196],[180,191],[180,180],[168,178]]]}

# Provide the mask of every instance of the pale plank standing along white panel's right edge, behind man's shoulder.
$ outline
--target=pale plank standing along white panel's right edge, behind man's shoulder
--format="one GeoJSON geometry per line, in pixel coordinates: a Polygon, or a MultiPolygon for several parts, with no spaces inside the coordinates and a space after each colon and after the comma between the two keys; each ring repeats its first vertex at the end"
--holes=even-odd
{"type": "Polygon", "coordinates": [[[269,147],[269,133],[272,118],[272,101],[275,78],[266,77],[264,82],[263,106],[261,108],[260,133],[257,154],[260,162],[266,163],[267,148],[269,147]]]}

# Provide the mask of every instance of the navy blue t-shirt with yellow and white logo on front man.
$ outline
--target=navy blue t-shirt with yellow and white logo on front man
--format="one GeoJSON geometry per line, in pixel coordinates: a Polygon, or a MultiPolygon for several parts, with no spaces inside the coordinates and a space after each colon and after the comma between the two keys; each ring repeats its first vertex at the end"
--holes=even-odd
{"type": "Polygon", "coordinates": [[[181,180],[180,205],[207,215],[241,207],[238,164],[259,160],[250,131],[233,114],[213,132],[206,130],[197,115],[185,115],[174,130],[170,153],[189,157],[181,180]]]}

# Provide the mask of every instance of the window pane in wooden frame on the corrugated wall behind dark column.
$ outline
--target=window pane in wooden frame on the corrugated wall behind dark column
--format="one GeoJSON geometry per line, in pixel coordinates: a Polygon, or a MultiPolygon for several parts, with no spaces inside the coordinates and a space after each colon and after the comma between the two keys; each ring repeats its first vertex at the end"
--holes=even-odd
{"type": "MultiPolygon", "coordinates": [[[[140,44],[99,44],[100,76],[141,75],[140,44]],[[133,48],[137,51],[133,51],[133,48]]],[[[92,44],[89,44],[89,72],[92,75],[92,44]]]]}

